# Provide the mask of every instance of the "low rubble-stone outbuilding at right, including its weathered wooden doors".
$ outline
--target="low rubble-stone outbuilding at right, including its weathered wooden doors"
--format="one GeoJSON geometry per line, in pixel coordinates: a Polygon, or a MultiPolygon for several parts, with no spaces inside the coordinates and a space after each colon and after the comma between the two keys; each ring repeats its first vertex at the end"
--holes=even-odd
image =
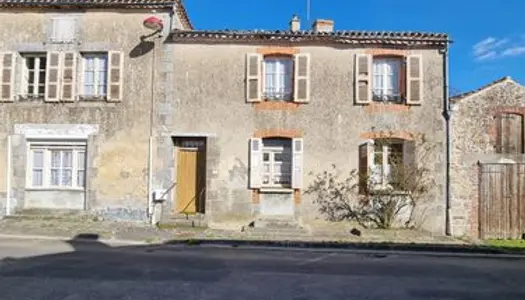
{"type": "Polygon", "coordinates": [[[451,99],[454,235],[525,234],[525,87],[510,77],[451,99]]]}

